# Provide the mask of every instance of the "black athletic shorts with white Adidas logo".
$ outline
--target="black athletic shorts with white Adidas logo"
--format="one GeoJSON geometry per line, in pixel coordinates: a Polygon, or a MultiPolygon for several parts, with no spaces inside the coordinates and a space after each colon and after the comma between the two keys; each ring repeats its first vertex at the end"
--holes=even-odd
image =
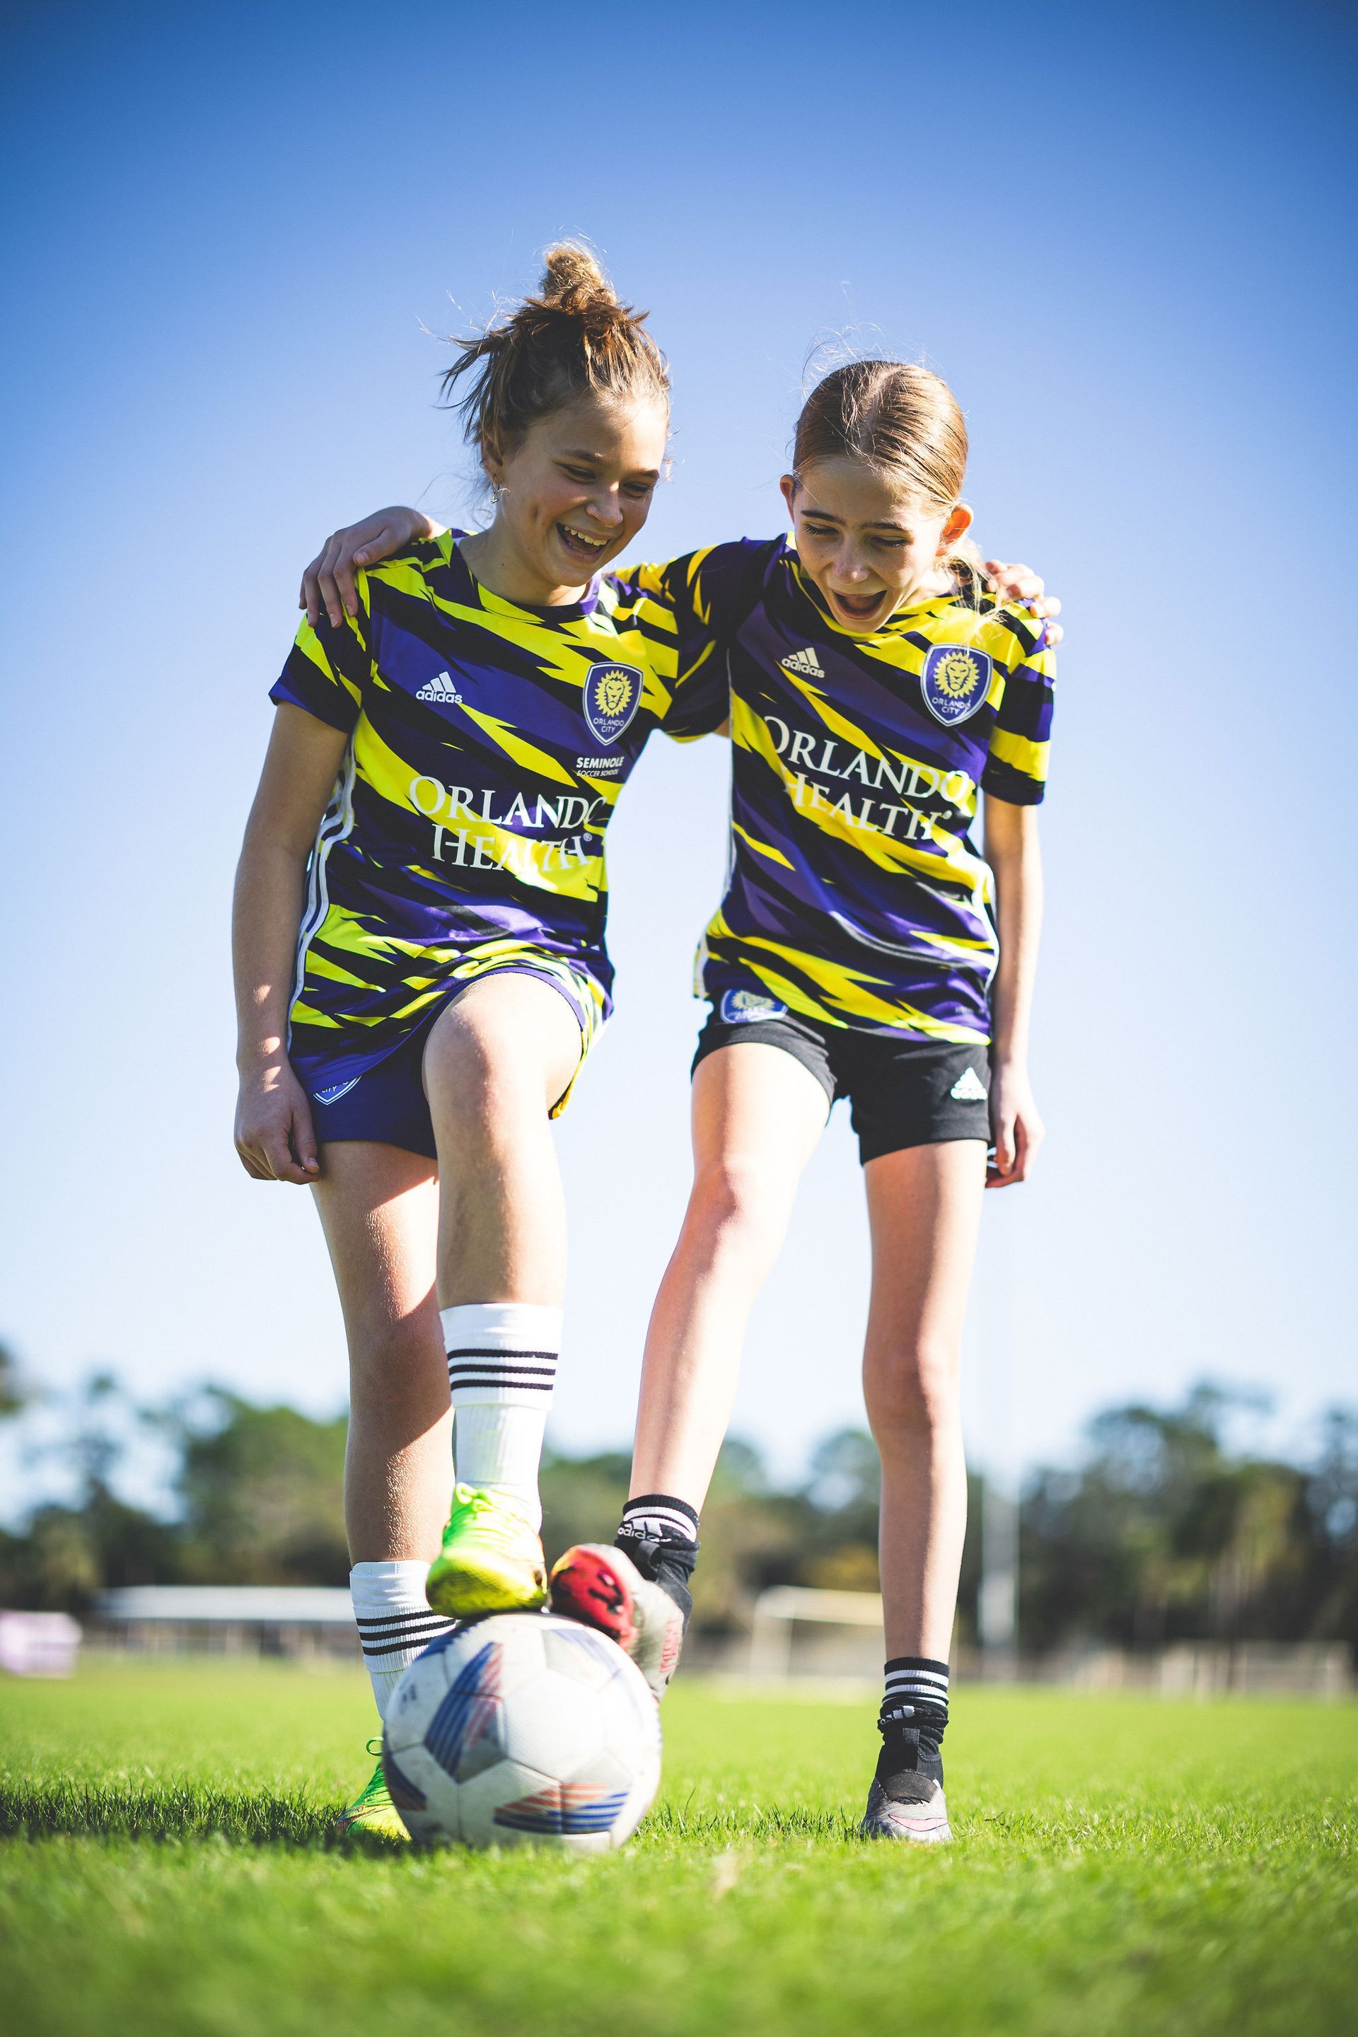
{"type": "Polygon", "coordinates": [[[831,1104],[847,1096],[863,1165],[945,1139],[989,1145],[989,1049],[983,1043],[955,1047],[951,1041],[855,1033],[796,1012],[739,1021],[713,1012],[692,1065],[719,1047],[741,1045],[782,1047],[810,1069],[831,1104]]]}

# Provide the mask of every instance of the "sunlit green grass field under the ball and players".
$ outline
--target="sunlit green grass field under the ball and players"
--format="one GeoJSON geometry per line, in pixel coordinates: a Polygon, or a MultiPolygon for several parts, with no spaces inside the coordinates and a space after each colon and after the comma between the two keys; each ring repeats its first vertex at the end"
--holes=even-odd
{"type": "Polygon", "coordinates": [[[1352,2031],[1358,1707],[963,1689],[957,1843],[853,1837],[869,1707],[666,1701],[625,1854],[334,1843],[360,1674],[0,1687],[6,2029],[1352,2031]]]}

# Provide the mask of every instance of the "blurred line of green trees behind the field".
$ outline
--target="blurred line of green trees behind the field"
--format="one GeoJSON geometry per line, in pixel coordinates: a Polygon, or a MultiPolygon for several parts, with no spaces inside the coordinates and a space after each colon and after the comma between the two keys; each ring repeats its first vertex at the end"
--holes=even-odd
{"type": "MultiPolygon", "coordinates": [[[[31,1397],[0,1353],[0,1420],[31,1397]]],[[[1317,1448],[1289,1463],[1232,1440],[1248,1395],[1199,1385],[1179,1408],[1099,1414],[1071,1465],[1034,1471],[1020,1499],[1018,1626],[1024,1652],[1134,1650],[1173,1640],[1344,1640],[1358,1646],[1358,1412],[1332,1410],[1317,1448]]],[[[0,1530],[0,1605],[90,1611],[116,1585],[344,1585],[344,1418],[314,1420],[226,1389],[138,1408],[108,1375],[75,1395],[61,1446],[75,1491],[0,1530]],[[173,1461],[171,1503],[116,1491],[126,1438],[155,1432],[173,1461]]],[[[959,1601],[975,1638],[981,1493],[959,1601]]],[[[702,1511],[694,1619],[749,1623],[768,1585],[878,1589],[878,1454],[861,1430],[812,1452],[780,1487],[755,1448],[729,1442],[702,1511]]],[[[544,1542],[613,1534],[627,1456],[548,1452],[544,1542]]]]}

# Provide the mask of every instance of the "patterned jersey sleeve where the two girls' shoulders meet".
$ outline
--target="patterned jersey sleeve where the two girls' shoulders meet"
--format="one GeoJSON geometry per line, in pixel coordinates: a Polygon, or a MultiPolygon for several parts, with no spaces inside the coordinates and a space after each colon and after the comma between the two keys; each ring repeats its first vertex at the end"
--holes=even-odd
{"type": "Polygon", "coordinates": [[[676,741],[711,735],[731,713],[727,650],[759,599],[774,548],[737,538],[617,574],[615,619],[649,640],[670,695],[660,727],[676,741]]]}

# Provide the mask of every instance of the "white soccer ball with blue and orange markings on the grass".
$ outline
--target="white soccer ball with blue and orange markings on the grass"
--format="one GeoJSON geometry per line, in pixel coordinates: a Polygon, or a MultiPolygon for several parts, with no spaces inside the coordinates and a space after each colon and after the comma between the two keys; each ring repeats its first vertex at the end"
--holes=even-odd
{"type": "Polygon", "coordinates": [[[552,1613],[497,1613],[405,1670],[383,1770],[415,1843],[607,1854],[660,1786],[660,1713],[617,1642],[552,1613]]]}

